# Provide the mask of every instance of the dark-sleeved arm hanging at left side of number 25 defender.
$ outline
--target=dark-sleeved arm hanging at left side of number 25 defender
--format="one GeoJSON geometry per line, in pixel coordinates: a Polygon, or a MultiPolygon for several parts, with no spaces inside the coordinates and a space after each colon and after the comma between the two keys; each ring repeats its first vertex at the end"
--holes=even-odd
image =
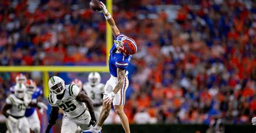
{"type": "Polygon", "coordinates": [[[49,116],[49,122],[48,122],[47,128],[45,130],[46,133],[50,132],[51,127],[56,123],[56,120],[58,119],[58,114],[59,114],[59,108],[52,107],[51,113],[49,116]]]}

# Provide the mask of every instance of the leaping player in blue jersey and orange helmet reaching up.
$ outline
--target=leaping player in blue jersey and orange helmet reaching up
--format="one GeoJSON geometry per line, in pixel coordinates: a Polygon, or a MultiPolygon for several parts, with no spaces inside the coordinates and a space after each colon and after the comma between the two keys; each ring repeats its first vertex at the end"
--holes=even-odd
{"type": "Polygon", "coordinates": [[[102,129],[102,125],[111,109],[110,104],[113,101],[114,110],[119,115],[125,132],[129,133],[129,121],[124,113],[125,91],[129,85],[126,69],[130,63],[131,55],[135,54],[137,51],[137,46],[133,39],[124,34],[120,34],[119,29],[114,23],[114,19],[111,17],[111,14],[107,12],[106,6],[102,2],[100,3],[102,8],[100,12],[104,13],[115,39],[114,45],[110,50],[109,71],[111,78],[107,81],[104,88],[103,109],[100,113],[97,125],[89,130],[89,132],[99,132],[102,129]]]}

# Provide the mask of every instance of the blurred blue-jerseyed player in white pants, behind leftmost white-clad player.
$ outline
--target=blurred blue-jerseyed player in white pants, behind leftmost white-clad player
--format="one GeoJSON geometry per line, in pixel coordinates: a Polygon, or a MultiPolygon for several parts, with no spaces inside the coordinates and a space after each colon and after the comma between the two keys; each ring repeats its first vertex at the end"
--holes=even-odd
{"type": "MultiPolygon", "coordinates": [[[[42,89],[38,88],[32,79],[26,80],[25,85],[26,92],[31,95],[32,102],[37,102],[37,98],[43,93],[42,89]]],[[[43,110],[40,109],[40,112],[43,113],[43,110]]],[[[27,108],[25,116],[29,121],[30,129],[35,133],[39,133],[41,125],[36,109],[34,107],[27,108]]]]}

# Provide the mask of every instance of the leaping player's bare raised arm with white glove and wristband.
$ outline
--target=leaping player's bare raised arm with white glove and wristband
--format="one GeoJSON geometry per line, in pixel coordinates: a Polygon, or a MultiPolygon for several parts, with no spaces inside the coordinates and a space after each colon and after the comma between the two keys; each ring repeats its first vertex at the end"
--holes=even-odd
{"type": "Polygon", "coordinates": [[[116,37],[118,34],[120,34],[119,29],[117,28],[116,23],[114,23],[114,19],[112,18],[111,14],[107,12],[106,6],[102,2],[100,2],[100,4],[101,4],[100,7],[102,8],[102,10],[99,12],[102,12],[104,14],[107,20],[107,23],[109,23],[112,29],[112,33],[114,37],[116,37]]]}

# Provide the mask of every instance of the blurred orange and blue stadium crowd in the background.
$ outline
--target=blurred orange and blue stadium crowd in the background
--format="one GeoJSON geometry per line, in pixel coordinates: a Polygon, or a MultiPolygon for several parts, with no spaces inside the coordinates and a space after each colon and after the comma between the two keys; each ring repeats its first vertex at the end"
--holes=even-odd
{"type": "MultiPolygon", "coordinates": [[[[105,64],[104,16],[88,3],[1,1],[0,64],[105,64]]],[[[131,123],[240,124],[256,116],[255,1],[119,0],[113,17],[138,44],[126,92],[131,123]]],[[[1,73],[2,104],[16,74],[1,73]]]]}

